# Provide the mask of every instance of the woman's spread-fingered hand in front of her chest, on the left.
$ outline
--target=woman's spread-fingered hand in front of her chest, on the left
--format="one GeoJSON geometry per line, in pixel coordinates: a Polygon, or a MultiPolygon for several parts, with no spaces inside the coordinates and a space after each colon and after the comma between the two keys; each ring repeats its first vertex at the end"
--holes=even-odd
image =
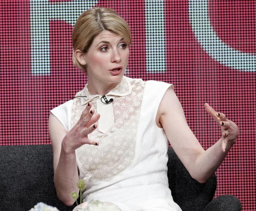
{"type": "Polygon", "coordinates": [[[97,124],[95,123],[100,118],[100,114],[94,115],[94,110],[90,109],[91,103],[89,102],[86,108],[83,110],[78,122],[63,138],[62,148],[65,152],[72,153],[84,144],[99,145],[98,141],[88,138],[88,134],[97,128],[97,124]]]}

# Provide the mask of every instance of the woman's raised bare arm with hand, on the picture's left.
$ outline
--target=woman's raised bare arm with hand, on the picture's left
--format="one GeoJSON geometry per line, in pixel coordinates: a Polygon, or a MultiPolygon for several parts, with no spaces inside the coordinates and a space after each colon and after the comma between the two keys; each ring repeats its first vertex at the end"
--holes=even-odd
{"type": "Polygon", "coordinates": [[[78,170],[76,165],[75,150],[83,144],[98,145],[98,142],[88,138],[88,134],[95,130],[95,122],[100,117],[90,112],[91,103],[87,106],[80,120],[70,130],[66,131],[59,120],[53,115],[49,116],[49,134],[53,149],[54,184],[59,199],[71,206],[75,200],[70,196],[77,191],[78,170]]]}

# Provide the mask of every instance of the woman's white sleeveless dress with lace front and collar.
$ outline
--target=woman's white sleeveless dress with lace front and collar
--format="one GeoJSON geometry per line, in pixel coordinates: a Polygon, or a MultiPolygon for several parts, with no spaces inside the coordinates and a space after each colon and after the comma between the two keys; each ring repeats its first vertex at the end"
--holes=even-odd
{"type": "Polygon", "coordinates": [[[98,146],[86,144],[76,150],[79,178],[87,182],[83,202],[111,202],[122,211],[181,211],[168,188],[168,139],[155,122],[161,99],[170,86],[123,76],[105,95],[113,98],[106,110],[107,104],[99,104],[102,96],[90,95],[87,86],[76,94],[86,97],[51,110],[67,131],[79,120],[88,102],[95,113],[108,111],[111,117],[109,122],[108,118],[98,122],[98,128],[110,125],[109,129],[102,132],[97,128],[89,135],[99,141],[98,146]]]}

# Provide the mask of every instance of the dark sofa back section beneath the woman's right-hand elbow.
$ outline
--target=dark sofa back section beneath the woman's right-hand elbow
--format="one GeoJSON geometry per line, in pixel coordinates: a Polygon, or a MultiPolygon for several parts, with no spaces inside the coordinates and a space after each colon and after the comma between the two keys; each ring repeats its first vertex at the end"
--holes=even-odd
{"type": "Polygon", "coordinates": [[[213,175],[201,184],[193,179],[172,148],[168,149],[168,180],[174,202],[183,211],[204,210],[214,197],[217,179],[213,175]]]}

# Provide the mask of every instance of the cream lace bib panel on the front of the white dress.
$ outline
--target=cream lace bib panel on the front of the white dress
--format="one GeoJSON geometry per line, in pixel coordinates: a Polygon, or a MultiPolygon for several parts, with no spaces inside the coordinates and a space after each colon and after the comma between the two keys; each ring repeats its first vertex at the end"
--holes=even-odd
{"type": "MultiPolygon", "coordinates": [[[[99,141],[98,146],[85,144],[76,150],[82,170],[89,172],[92,179],[109,181],[132,164],[144,88],[145,82],[141,79],[124,76],[106,95],[108,99],[113,98],[113,127],[105,134],[96,129],[88,135],[89,138],[99,141]]],[[[89,91],[85,87],[76,96],[88,95],[89,91]]],[[[92,109],[97,114],[96,100],[101,96],[91,95],[90,98],[92,109]]],[[[82,97],[75,98],[71,110],[71,128],[77,123],[89,101],[82,97]]]]}

